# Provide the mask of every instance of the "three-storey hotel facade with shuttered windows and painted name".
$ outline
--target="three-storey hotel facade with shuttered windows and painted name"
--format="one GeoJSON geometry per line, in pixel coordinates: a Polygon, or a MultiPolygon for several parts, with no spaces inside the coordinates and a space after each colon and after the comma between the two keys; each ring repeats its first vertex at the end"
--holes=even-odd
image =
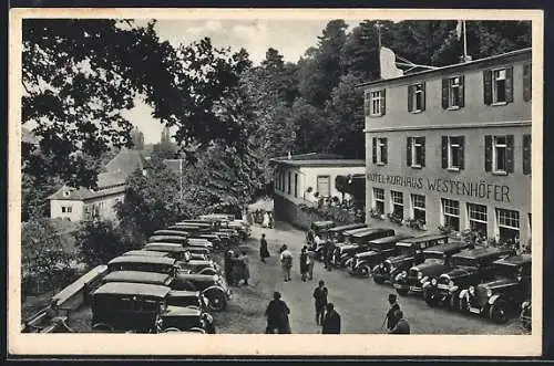
{"type": "Polygon", "coordinates": [[[530,242],[531,49],[360,86],[368,211],[530,242]]]}

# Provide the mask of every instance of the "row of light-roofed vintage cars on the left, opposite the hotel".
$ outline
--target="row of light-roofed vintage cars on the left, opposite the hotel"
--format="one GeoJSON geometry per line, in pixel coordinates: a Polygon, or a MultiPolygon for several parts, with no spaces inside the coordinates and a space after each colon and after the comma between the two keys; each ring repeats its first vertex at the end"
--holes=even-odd
{"type": "Polygon", "coordinates": [[[107,263],[91,292],[94,332],[215,333],[211,312],[232,299],[212,254],[239,243],[249,226],[227,215],[185,220],[148,238],[141,250],[107,263]]]}

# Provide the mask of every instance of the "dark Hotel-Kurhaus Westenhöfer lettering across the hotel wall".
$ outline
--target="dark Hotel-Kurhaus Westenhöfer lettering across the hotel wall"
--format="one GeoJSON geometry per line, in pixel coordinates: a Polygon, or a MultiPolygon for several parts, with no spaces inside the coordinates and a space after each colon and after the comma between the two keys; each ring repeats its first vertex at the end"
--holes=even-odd
{"type": "Polygon", "coordinates": [[[369,181],[390,186],[409,187],[420,190],[438,191],[455,196],[468,196],[482,199],[493,199],[497,202],[510,202],[510,187],[504,185],[492,185],[484,180],[461,181],[442,178],[420,178],[390,176],[371,172],[367,175],[369,181]]]}

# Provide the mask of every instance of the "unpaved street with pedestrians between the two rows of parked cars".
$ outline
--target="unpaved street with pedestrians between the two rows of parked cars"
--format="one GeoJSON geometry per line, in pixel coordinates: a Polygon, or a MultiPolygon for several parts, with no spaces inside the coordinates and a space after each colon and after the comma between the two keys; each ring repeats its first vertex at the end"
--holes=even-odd
{"type": "MultiPolygon", "coordinates": [[[[314,280],[301,282],[298,257],[305,243],[305,233],[288,223],[277,222],[275,229],[253,227],[252,238],[240,247],[249,255],[249,286],[233,287],[234,299],[227,311],[215,313],[218,333],[264,333],[265,309],[274,291],[283,294],[290,307],[293,333],[320,333],[315,323],[311,294],[319,280],[329,289],[329,301],[341,315],[341,332],[350,334],[382,333],[387,296],[396,293],[389,285],[378,285],[371,279],[358,279],[345,270],[328,272],[316,262],[314,280]],[[259,238],[266,233],[271,257],[259,261],[259,238]],[[293,281],[284,282],[278,249],[286,243],[294,254],[293,281]]],[[[399,304],[413,334],[523,334],[517,318],[496,325],[486,318],[454,313],[445,309],[430,309],[416,295],[399,296],[399,304]]]]}

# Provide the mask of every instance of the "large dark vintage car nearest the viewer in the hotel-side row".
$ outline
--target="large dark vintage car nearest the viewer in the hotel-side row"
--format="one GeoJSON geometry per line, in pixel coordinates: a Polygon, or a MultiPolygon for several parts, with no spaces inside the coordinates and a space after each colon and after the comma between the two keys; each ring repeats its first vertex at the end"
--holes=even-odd
{"type": "Polygon", "coordinates": [[[531,254],[512,255],[494,262],[491,281],[460,292],[460,309],[505,323],[531,299],[531,254]]]}

